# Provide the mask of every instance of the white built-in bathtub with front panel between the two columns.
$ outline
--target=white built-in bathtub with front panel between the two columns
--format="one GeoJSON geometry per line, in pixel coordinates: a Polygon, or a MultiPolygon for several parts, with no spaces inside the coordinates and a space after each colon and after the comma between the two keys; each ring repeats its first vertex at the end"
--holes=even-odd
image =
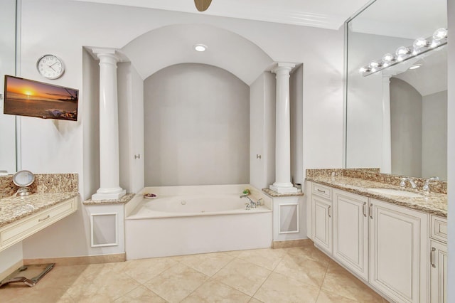
{"type": "Polygon", "coordinates": [[[269,248],[271,208],[271,198],[245,184],[146,187],[126,206],[127,259],[269,248]],[[262,206],[245,209],[245,188],[262,206]]]}

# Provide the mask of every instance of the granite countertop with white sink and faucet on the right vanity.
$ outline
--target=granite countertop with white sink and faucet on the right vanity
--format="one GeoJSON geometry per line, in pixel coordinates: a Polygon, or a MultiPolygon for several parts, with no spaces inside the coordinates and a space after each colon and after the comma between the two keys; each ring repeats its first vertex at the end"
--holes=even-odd
{"type": "MultiPolygon", "coordinates": [[[[427,196],[422,195],[422,197],[409,198],[368,191],[367,188],[400,189],[400,186],[384,184],[377,181],[347,176],[314,176],[307,177],[306,180],[447,218],[447,195],[444,193],[430,192],[427,196]]],[[[409,188],[407,190],[422,193],[422,191],[415,191],[409,188]]]]}

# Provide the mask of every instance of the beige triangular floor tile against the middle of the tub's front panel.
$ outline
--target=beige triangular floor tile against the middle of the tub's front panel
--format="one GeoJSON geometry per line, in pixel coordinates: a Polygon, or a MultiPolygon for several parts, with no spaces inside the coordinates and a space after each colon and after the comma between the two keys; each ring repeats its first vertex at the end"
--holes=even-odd
{"type": "Polygon", "coordinates": [[[234,260],[234,256],[228,253],[213,252],[202,255],[186,255],[181,257],[180,262],[212,277],[232,260],[234,260]]]}

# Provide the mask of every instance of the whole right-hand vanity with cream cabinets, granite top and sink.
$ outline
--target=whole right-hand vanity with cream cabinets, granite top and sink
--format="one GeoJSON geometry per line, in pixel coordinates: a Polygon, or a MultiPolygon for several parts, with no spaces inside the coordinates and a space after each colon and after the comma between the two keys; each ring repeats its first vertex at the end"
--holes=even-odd
{"type": "Polygon", "coordinates": [[[392,175],[361,175],[307,173],[309,238],[393,302],[446,302],[444,183],[425,195],[392,175]]]}

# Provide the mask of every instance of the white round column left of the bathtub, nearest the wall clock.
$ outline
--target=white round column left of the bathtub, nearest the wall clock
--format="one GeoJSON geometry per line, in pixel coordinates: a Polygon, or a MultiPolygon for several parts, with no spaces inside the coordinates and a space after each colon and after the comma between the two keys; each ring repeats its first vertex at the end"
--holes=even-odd
{"type": "Polygon", "coordinates": [[[124,196],[119,186],[119,112],[115,50],[93,50],[100,59],[100,188],[92,200],[116,200],[124,196]]]}

